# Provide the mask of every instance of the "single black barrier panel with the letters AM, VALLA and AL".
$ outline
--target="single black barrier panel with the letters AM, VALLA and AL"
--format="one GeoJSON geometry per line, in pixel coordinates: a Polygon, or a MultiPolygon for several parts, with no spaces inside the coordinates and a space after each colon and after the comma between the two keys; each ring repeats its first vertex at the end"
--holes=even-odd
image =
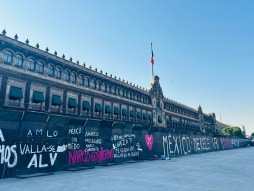
{"type": "Polygon", "coordinates": [[[43,112],[25,112],[20,126],[18,146],[17,176],[47,172],[46,162],[49,147],[45,143],[48,114],[43,112]]]}

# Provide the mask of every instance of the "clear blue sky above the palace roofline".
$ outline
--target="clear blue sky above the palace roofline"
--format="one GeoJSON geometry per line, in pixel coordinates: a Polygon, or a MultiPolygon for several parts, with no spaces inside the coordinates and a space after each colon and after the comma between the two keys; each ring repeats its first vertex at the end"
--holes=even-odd
{"type": "Polygon", "coordinates": [[[0,0],[0,30],[254,132],[253,0],[0,0]]]}

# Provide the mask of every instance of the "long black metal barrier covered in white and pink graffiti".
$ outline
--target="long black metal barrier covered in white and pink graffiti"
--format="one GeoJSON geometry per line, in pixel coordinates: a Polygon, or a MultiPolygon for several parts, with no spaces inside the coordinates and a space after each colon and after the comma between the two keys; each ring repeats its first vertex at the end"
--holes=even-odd
{"type": "Polygon", "coordinates": [[[0,116],[1,178],[165,159],[248,144],[246,139],[38,112],[0,111],[0,116]]]}

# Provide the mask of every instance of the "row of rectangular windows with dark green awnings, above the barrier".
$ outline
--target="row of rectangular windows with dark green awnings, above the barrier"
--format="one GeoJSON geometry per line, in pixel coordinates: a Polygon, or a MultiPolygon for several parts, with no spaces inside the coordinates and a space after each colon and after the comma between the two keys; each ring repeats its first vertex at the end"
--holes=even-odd
{"type": "MultiPolygon", "coordinates": [[[[87,117],[99,117],[120,121],[152,124],[152,112],[132,105],[101,100],[84,94],[63,92],[61,89],[50,88],[46,94],[46,87],[40,84],[31,84],[29,102],[25,102],[26,83],[10,80],[5,92],[5,106],[27,108],[36,111],[52,113],[66,113],[87,117]],[[49,97],[46,97],[49,95],[49,97]],[[65,96],[64,96],[65,95],[65,96]]],[[[1,92],[4,93],[4,92],[1,92]]]]}

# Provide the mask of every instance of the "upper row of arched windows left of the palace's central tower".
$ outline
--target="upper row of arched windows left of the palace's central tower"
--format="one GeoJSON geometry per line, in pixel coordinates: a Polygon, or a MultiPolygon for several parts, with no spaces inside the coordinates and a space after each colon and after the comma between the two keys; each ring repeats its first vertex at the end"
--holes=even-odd
{"type": "Polygon", "coordinates": [[[14,65],[16,67],[26,67],[29,71],[41,73],[52,78],[61,79],[66,82],[74,83],[79,86],[89,87],[97,91],[103,91],[119,97],[149,104],[148,96],[134,92],[126,87],[120,87],[111,82],[103,82],[102,80],[87,76],[85,73],[77,74],[70,69],[63,70],[60,66],[52,63],[46,64],[43,60],[36,60],[34,57],[24,58],[21,53],[14,53],[9,49],[3,50],[4,63],[14,65]],[[13,61],[14,60],[14,61],[13,61]]]}

